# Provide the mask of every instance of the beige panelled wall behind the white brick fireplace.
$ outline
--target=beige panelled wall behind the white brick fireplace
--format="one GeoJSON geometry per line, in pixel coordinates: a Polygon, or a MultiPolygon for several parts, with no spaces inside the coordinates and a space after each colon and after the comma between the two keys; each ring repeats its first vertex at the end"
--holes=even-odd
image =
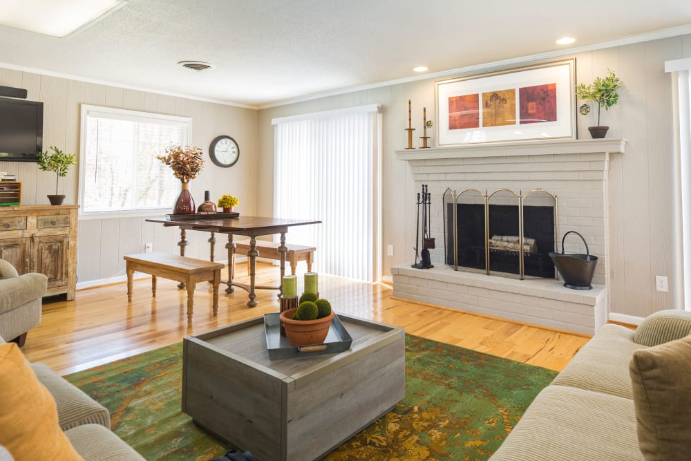
{"type": "MultiPolygon", "coordinates": [[[[569,57],[569,56],[566,56],[569,57]]],[[[621,103],[603,113],[610,126],[607,138],[626,138],[626,153],[612,160],[611,312],[644,317],[674,307],[673,146],[668,59],[691,57],[691,35],[648,41],[580,53],[576,81],[591,82],[616,70],[625,84],[621,103]],[[670,292],[654,290],[654,276],[669,277],[670,292]]],[[[489,69],[488,69],[489,70],[489,69]]],[[[435,113],[433,79],[397,84],[346,95],[279,106],[259,111],[258,164],[263,178],[272,171],[274,117],[340,109],[361,104],[382,104],[384,113],[384,248],[392,244],[394,256],[383,256],[384,274],[390,267],[413,261],[415,190],[407,162],[396,160],[395,150],[405,147],[408,99],[413,100],[413,124],[422,127],[422,107],[435,113]]],[[[580,104],[579,104],[580,105],[580,104]]],[[[436,121],[435,121],[436,122],[436,121]]],[[[593,113],[578,115],[578,133],[589,138],[587,126],[596,124],[593,113]]],[[[417,140],[416,140],[417,141],[417,140]]],[[[419,144],[415,144],[419,145],[419,144]]],[[[264,180],[257,202],[258,214],[272,213],[271,181],[264,180]]],[[[437,198],[438,200],[438,198],[437,198]]]]}

